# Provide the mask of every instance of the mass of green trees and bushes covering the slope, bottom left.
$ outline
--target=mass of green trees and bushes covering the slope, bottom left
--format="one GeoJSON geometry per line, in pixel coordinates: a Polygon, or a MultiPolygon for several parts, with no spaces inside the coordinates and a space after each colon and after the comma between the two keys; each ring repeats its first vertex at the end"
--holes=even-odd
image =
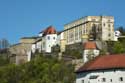
{"type": "Polygon", "coordinates": [[[73,83],[74,67],[55,58],[36,55],[32,61],[0,67],[0,83],[73,83]]]}

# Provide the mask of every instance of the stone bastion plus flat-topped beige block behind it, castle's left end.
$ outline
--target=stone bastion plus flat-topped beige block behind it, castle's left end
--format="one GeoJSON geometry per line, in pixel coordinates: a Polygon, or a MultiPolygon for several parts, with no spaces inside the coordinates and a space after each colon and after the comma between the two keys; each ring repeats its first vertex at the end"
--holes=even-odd
{"type": "Polygon", "coordinates": [[[15,64],[30,61],[32,45],[37,39],[38,37],[24,37],[20,39],[20,43],[12,45],[9,48],[10,61],[15,64]]]}

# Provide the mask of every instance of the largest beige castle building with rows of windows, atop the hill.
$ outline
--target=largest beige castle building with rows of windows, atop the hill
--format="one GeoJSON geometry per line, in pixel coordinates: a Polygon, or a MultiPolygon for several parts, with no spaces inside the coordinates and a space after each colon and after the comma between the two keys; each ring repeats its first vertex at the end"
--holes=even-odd
{"type": "Polygon", "coordinates": [[[64,25],[64,39],[67,45],[79,43],[85,38],[114,40],[114,17],[86,16],[64,25]]]}

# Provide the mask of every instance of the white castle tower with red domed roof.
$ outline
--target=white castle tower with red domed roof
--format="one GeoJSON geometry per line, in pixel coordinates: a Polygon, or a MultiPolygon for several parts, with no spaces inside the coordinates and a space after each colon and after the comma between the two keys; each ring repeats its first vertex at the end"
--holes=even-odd
{"type": "Polygon", "coordinates": [[[51,53],[51,48],[57,44],[57,32],[54,27],[49,26],[42,33],[42,51],[51,53]]]}

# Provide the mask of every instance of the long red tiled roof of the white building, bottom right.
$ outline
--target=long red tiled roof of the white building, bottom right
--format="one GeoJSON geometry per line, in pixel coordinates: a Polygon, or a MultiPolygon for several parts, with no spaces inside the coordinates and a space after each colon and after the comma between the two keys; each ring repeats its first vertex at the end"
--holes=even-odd
{"type": "Polygon", "coordinates": [[[125,68],[125,54],[98,56],[94,60],[85,63],[76,72],[125,68]]]}

